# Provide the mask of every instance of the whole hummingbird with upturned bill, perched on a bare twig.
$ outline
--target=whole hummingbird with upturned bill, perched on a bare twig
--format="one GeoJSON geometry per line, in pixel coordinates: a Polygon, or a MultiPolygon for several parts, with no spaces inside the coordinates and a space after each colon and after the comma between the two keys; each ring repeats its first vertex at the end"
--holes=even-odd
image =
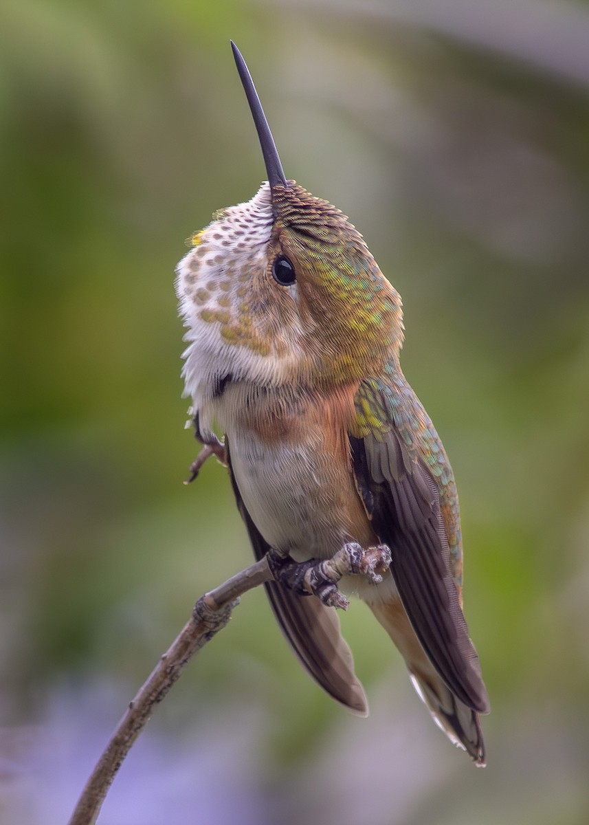
{"type": "MultiPolygon", "coordinates": [[[[231,45],[268,179],[194,233],[177,266],[196,437],[228,466],[257,559],[388,546],[379,582],[356,575],[340,586],[389,634],[436,724],[483,766],[478,714],[490,708],[462,609],[458,495],[401,370],[401,298],[346,215],[286,179],[231,45]]],[[[276,581],[266,592],[309,674],[366,715],[336,610],[276,581]]]]}

